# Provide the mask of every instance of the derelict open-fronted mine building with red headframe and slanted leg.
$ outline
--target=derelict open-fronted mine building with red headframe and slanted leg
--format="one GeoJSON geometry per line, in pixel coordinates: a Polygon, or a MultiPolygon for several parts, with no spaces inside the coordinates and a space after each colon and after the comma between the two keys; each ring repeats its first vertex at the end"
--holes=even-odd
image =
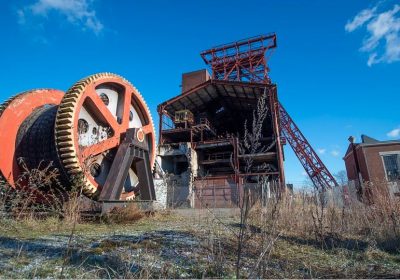
{"type": "Polygon", "coordinates": [[[267,193],[284,189],[286,142],[317,187],[336,185],[278,101],[267,65],[274,48],[276,35],[269,34],[204,51],[211,74],[183,74],[182,92],[158,105],[157,164],[168,178],[169,206],[232,207],[243,186],[260,184],[260,178],[267,193]],[[261,97],[267,114],[260,145],[245,147],[261,97]]]}

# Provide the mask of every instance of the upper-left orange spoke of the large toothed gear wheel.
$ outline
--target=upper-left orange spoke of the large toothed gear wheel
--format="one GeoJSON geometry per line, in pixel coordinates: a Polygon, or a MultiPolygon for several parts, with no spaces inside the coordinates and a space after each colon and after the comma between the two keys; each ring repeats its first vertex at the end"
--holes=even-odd
{"type": "Polygon", "coordinates": [[[96,114],[96,116],[103,122],[107,123],[114,131],[114,134],[118,134],[120,131],[120,125],[115,119],[115,117],[111,114],[110,110],[103,103],[99,95],[93,88],[88,89],[87,92],[87,106],[90,111],[96,114]]]}

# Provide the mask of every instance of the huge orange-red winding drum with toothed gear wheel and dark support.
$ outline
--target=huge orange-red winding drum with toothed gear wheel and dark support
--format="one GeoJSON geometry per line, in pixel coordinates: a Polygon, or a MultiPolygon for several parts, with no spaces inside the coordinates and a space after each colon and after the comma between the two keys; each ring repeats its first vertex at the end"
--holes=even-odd
{"type": "Polygon", "coordinates": [[[13,188],[41,188],[45,197],[56,189],[67,194],[73,185],[96,200],[110,175],[111,199],[155,199],[153,121],[139,91],[118,75],[86,77],[65,94],[52,89],[19,94],[0,107],[0,129],[0,173],[13,188]],[[134,133],[134,143],[124,142],[127,132],[134,133]],[[116,154],[124,154],[118,149],[122,143],[130,160],[111,172],[116,154]],[[26,178],[37,169],[58,171],[58,177],[46,188],[31,186],[26,178]]]}

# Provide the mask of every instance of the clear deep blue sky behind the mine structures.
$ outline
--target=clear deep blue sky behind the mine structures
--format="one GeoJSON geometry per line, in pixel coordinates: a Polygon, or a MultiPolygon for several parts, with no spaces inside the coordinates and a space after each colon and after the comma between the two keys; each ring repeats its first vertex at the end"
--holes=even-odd
{"type": "MultiPolygon", "coordinates": [[[[400,138],[397,1],[1,1],[0,100],[31,88],[67,90],[96,72],[125,76],[156,106],[180,92],[199,53],[276,32],[279,98],[322,160],[344,169],[347,138],[400,138]],[[396,4],[397,3],[397,4],[396,4]]],[[[157,120],[156,120],[157,121],[157,120]]],[[[288,182],[304,171],[285,148],[288,182]]]]}

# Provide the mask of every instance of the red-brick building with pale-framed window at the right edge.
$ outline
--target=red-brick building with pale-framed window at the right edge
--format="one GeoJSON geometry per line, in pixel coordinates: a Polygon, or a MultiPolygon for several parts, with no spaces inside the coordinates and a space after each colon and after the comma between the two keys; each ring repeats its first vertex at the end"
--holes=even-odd
{"type": "Polygon", "coordinates": [[[361,143],[354,143],[356,157],[350,144],[343,158],[349,181],[358,181],[355,158],[358,159],[363,182],[400,181],[400,140],[378,141],[361,135],[361,143]]]}

